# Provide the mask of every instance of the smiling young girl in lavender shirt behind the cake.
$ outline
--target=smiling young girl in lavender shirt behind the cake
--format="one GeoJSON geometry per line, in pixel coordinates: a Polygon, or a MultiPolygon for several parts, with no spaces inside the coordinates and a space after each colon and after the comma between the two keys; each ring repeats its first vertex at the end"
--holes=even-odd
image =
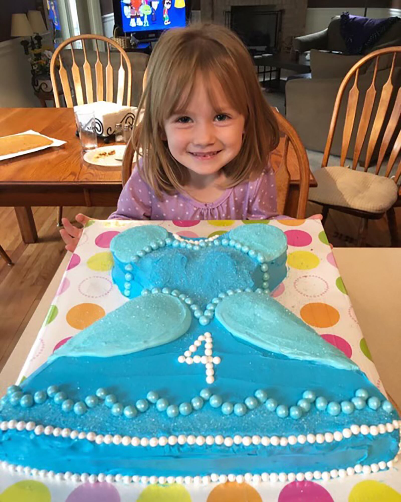
{"type": "MultiPolygon", "coordinates": [[[[146,70],[131,141],[138,162],[115,219],[264,219],[277,215],[269,154],[279,141],[252,59],[217,25],[163,33],[146,70]]],[[[89,218],[76,217],[79,223],[89,218]]],[[[73,251],[82,229],[63,218],[73,251]]]]}

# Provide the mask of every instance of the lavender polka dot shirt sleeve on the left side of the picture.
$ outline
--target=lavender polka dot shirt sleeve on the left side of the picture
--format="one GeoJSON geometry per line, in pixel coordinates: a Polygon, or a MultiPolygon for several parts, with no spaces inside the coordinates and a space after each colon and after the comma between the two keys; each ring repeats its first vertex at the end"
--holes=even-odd
{"type": "Polygon", "coordinates": [[[152,189],[145,183],[135,166],[124,185],[117,203],[117,210],[108,219],[150,219],[152,189]]]}

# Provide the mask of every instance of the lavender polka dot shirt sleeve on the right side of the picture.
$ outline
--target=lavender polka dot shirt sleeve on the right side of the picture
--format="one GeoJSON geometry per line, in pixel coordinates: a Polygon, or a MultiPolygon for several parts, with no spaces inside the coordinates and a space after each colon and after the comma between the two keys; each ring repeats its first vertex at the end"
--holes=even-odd
{"type": "Polygon", "coordinates": [[[269,219],[277,216],[276,178],[270,165],[249,185],[247,216],[248,219],[269,219]]]}

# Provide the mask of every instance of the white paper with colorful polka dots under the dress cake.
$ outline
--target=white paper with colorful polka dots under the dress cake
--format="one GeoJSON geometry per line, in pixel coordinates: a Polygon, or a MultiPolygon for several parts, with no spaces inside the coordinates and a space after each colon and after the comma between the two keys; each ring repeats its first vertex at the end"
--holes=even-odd
{"type": "MultiPolygon", "coordinates": [[[[135,225],[157,224],[183,237],[211,237],[235,226],[261,221],[91,220],[49,308],[20,374],[20,381],[76,335],[127,300],[111,280],[111,239],[135,225]]],[[[328,343],[352,358],[381,392],[377,370],[319,218],[271,220],[288,240],[288,275],[272,292],[285,307],[312,326],[328,343]]],[[[246,472],[246,466],[244,466],[246,472]]],[[[326,482],[260,484],[227,482],[208,485],[72,483],[9,474],[0,469],[1,502],[401,502],[398,467],[372,475],[326,482]],[[3,491],[2,491],[3,490],[3,491]]]]}

